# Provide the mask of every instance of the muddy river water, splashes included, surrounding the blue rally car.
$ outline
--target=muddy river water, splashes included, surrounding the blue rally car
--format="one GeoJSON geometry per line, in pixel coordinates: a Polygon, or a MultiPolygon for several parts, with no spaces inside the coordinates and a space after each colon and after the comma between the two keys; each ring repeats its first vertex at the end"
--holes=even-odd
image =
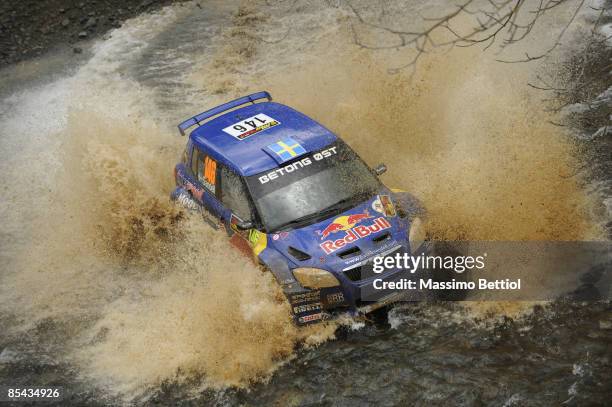
{"type": "MultiPolygon", "coordinates": [[[[418,28],[439,3],[355,6],[418,28]]],[[[266,89],[384,161],[440,237],[602,240],[601,184],[527,86],[550,59],[495,61],[546,49],[571,12],[538,40],[436,50],[390,73],[410,51],[357,46],[342,2],[186,3],[67,67],[51,55],[5,69],[0,383],[61,385],[77,405],[605,404],[609,303],[403,304],[297,329],[271,277],[168,199],[175,125],[266,89]]]]}

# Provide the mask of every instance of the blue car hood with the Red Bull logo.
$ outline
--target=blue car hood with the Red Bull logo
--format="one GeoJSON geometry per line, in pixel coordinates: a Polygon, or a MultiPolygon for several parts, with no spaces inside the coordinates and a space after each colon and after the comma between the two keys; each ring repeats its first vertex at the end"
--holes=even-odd
{"type": "Polygon", "coordinates": [[[383,189],[324,221],[273,233],[268,245],[296,267],[340,271],[406,245],[407,229],[407,220],[397,214],[393,194],[383,189]]]}

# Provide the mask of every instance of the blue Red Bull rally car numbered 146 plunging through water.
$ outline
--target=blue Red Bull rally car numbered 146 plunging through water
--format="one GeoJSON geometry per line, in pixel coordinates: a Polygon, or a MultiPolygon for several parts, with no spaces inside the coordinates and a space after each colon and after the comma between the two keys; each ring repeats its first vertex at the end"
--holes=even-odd
{"type": "Polygon", "coordinates": [[[338,136],[268,92],[178,127],[185,135],[194,126],[172,198],[224,225],[233,245],[273,273],[297,324],[406,298],[373,284],[415,276],[375,274],[375,257],[428,246],[416,199],[378,179],[385,165],[369,168],[338,136]]]}

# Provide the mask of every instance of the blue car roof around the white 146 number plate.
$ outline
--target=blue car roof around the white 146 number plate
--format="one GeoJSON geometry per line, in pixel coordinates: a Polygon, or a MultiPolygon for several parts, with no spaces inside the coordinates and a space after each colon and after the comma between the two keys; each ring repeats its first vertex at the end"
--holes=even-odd
{"type": "Polygon", "coordinates": [[[296,141],[306,152],[320,150],[337,139],[334,133],[305,114],[276,102],[255,103],[225,113],[197,127],[189,137],[201,151],[243,176],[278,167],[278,159],[265,148],[284,139],[296,141]],[[223,131],[260,113],[280,124],[243,140],[223,131]]]}

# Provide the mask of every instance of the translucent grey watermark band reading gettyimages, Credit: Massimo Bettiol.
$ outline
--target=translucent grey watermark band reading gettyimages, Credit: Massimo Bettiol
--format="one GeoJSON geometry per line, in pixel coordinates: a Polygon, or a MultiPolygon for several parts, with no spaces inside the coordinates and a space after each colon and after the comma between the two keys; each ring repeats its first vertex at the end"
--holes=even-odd
{"type": "Polygon", "coordinates": [[[414,253],[379,254],[345,271],[363,301],[401,292],[406,301],[612,299],[608,241],[433,242],[414,253]],[[359,275],[357,276],[358,267],[359,275]]]}

